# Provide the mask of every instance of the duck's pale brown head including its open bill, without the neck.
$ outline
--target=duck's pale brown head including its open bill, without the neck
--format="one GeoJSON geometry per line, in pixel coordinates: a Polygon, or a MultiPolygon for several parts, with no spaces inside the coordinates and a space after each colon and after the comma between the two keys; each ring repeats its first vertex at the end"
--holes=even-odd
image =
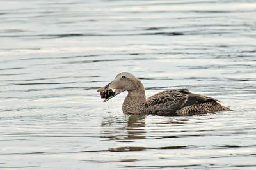
{"type": "Polygon", "coordinates": [[[124,91],[132,92],[134,90],[140,89],[141,87],[144,89],[143,84],[138,78],[136,78],[136,76],[128,72],[122,72],[117,74],[115,79],[108,83],[108,85],[98,89],[98,92],[106,92],[108,90],[115,89],[115,94],[104,100],[105,102],[124,91]]]}

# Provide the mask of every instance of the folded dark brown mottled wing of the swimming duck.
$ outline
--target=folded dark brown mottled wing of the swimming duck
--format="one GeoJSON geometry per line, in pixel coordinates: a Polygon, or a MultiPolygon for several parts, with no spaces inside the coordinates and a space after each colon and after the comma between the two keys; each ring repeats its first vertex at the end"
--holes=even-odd
{"type": "Polygon", "coordinates": [[[187,89],[166,90],[149,97],[143,111],[146,114],[173,115],[182,107],[211,100],[217,101],[201,94],[193,94],[187,89]]]}

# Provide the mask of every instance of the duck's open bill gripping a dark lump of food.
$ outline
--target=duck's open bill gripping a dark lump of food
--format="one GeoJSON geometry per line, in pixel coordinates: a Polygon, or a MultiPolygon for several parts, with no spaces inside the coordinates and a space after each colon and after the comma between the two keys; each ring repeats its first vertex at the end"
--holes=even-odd
{"type": "Polygon", "coordinates": [[[118,95],[121,92],[123,92],[123,90],[120,90],[120,89],[115,89],[115,91],[113,91],[114,89],[110,89],[109,88],[110,84],[111,83],[108,83],[108,85],[98,89],[98,92],[100,92],[101,98],[105,99],[104,102],[108,101],[109,99],[112,99],[116,95],[118,95]]]}

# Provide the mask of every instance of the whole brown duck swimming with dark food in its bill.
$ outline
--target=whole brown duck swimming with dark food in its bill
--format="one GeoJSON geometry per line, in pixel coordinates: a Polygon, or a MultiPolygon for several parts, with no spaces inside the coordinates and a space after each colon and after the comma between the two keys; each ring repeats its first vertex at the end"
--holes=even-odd
{"type": "Polygon", "coordinates": [[[125,114],[188,116],[232,111],[229,107],[222,106],[218,99],[195,94],[188,89],[164,90],[146,98],[143,83],[129,72],[117,74],[113,81],[97,91],[105,99],[104,102],[127,91],[128,94],[122,105],[125,114]]]}

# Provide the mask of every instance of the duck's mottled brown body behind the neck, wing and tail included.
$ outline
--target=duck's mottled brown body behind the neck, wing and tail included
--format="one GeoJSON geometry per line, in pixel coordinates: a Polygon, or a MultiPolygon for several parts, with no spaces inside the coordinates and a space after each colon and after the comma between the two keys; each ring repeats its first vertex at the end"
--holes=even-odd
{"type": "Polygon", "coordinates": [[[152,115],[193,115],[230,111],[217,99],[193,94],[187,89],[166,90],[151,96],[143,104],[141,113],[152,115]]]}

